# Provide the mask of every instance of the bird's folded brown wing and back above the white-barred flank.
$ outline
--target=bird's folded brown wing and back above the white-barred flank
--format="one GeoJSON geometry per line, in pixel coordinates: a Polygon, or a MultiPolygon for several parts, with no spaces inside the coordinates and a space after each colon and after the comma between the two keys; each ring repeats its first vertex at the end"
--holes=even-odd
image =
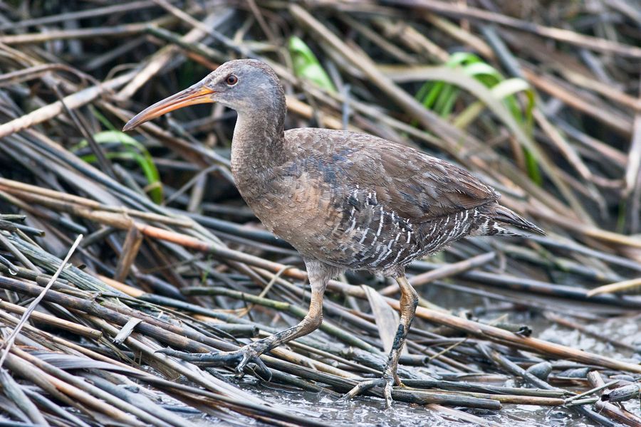
{"type": "Polygon", "coordinates": [[[464,169],[372,135],[303,129],[288,131],[287,139],[298,142],[292,147],[298,158],[315,159],[314,169],[323,174],[319,180],[334,191],[371,191],[378,204],[414,223],[500,197],[464,169]]]}

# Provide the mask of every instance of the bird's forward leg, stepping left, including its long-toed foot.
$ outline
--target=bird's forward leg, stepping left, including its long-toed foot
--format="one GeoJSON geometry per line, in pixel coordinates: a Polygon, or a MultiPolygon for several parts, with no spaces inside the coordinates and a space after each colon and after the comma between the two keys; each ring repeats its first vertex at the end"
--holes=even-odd
{"type": "Polygon", "coordinates": [[[261,361],[260,356],[281,344],[303,337],[318,329],[323,322],[323,295],[327,287],[328,279],[323,275],[314,275],[309,273],[311,284],[311,300],[309,303],[309,312],[298,325],[287,330],[270,335],[269,337],[259,339],[251,344],[246,344],[234,352],[217,352],[217,353],[187,353],[178,352],[172,349],[162,349],[158,352],[178,357],[187,362],[198,362],[206,366],[223,366],[227,364],[236,364],[236,374],[242,376],[247,364],[253,362],[259,369],[261,377],[268,381],[271,379],[271,372],[261,361]]]}

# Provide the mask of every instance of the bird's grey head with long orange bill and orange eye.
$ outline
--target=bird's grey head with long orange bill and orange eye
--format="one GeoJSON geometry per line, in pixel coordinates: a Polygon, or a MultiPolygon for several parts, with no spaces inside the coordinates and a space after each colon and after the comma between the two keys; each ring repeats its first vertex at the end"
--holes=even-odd
{"type": "Polygon", "coordinates": [[[208,102],[219,102],[244,113],[284,108],[285,95],[276,73],[266,63],[252,59],[230,60],[195,85],[145,108],[127,122],[123,130],[132,130],[187,105],[208,102]]]}

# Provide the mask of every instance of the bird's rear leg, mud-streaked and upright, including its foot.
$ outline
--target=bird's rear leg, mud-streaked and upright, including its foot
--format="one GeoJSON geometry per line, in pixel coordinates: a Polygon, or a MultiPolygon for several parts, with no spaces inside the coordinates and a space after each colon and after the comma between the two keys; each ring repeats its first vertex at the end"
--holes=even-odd
{"type": "Polygon", "coordinates": [[[340,400],[349,400],[358,394],[363,393],[363,391],[372,389],[373,387],[385,387],[385,406],[389,408],[392,406],[392,384],[400,385],[400,379],[396,374],[398,368],[398,359],[400,357],[403,344],[405,344],[405,338],[407,337],[407,332],[410,330],[410,325],[412,325],[412,320],[414,320],[414,315],[416,312],[416,307],[418,305],[418,295],[412,285],[407,281],[405,275],[402,275],[396,279],[400,290],[400,323],[398,325],[398,330],[396,336],[394,337],[394,342],[392,343],[392,349],[390,350],[390,356],[387,358],[387,364],[385,365],[385,370],[383,371],[382,378],[371,379],[369,381],[363,381],[357,384],[353,389],[350,390],[348,394],[345,394],[340,400]]]}

